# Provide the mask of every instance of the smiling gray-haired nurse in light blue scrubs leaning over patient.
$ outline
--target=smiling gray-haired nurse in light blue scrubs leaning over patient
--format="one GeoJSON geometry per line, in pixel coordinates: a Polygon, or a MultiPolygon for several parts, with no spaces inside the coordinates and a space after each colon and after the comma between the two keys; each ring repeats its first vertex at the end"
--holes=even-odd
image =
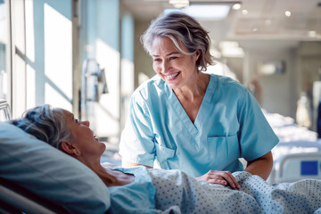
{"type": "Polygon", "coordinates": [[[259,104],[231,78],[205,74],[213,64],[208,32],[173,12],[141,37],[157,75],[139,86],[119,145],[123,167],[181,169],[208,183],[240,188],[231,172],[264,179],[278,143],[259,104]]]}

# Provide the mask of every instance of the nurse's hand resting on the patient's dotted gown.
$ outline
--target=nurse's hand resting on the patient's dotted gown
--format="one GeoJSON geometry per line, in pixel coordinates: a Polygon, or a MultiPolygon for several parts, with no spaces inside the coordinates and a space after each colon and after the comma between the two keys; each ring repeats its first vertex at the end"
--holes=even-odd
{"type": "Polygon", "coordinates": [[[210,170],[202,177],[196,177],[196,180],[206,181],[209,184],[229,185],[232,188],[241,188],[241,185],[237,183],[235,177],[229,171],[210,170]]]}

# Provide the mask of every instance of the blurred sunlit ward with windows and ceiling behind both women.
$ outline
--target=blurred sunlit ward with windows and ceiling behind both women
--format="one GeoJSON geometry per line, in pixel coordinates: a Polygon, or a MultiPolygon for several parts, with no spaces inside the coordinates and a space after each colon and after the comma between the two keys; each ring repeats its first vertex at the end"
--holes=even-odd
{"type": "Polygon", "coordinates": [[[139,37],[171,10],[210,32],[208,72],[247,86],[275,127],[290,121],[316,140],[320,0],[0,0],[0,99],[13,118],[44,103],[72,111],[117,159],[129,97],[155,75],[139,37]]]}

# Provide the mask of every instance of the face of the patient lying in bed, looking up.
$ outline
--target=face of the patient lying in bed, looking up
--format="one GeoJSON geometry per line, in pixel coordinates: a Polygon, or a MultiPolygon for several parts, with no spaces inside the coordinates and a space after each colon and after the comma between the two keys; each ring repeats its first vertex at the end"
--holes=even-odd
{"type": "Polygon", "coordinates": [[[100,158],[105,150],[105,144],[98,141],[94,132],[89,128],[88,121],[79,121],[70,111],[63,110],[67,125],[73,136],[71,144],[74,144],[86,158],[100,158]]]}

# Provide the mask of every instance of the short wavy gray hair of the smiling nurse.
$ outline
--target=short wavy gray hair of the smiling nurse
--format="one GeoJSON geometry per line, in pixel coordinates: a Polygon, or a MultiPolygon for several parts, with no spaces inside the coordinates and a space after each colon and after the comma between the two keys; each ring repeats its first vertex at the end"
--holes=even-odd
{"type": "Polygon", "coordinates": [[[181,53],[193,55],[197,50],[200,57],[196,62],[198,70],[207,70],[208,65],[214,64],[210,55],[209,32],[202,28],[198,21],[182,12],[170,12],[155,21],[140,38],[144,49],[151,53],[152,41],[155,37],[169,37],[181,53]],[[188,53],[180,45],[185,45],[188,53]]]}

